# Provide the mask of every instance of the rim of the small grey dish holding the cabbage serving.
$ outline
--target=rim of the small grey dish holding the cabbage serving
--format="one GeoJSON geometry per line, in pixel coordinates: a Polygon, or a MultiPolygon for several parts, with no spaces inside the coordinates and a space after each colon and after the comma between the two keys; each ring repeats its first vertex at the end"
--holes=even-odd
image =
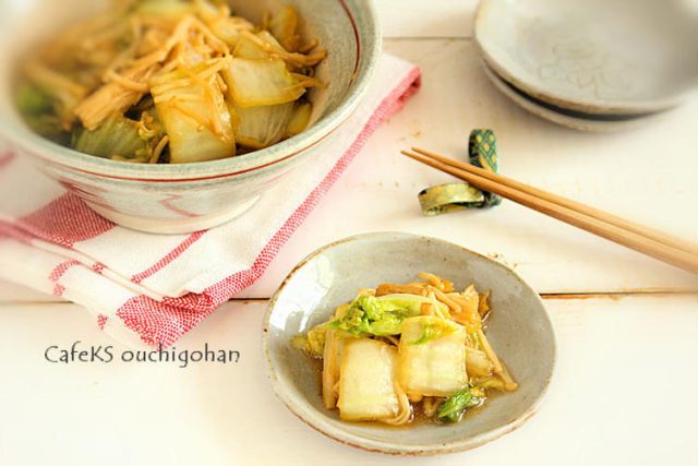
{"type": "MultiPolygon", "coordinates": [[[[274,296],[269,299],[269,302],[267,303],[267,308],[265,311],[265,315],[264,315],[264,320],[263,320],[263,328],[262,328],[262,353],[264,356],[264,362],[266,365],[266,372],[267,372],[267,378],[269,380],[269,382],[272,383],[272,387],[274,390],[274,393],[276,395],[276,397],[278,399],[281,401],[281,403],[297,417],[299,418],[301,421],[303,421],[305,425],[308,425],[309,427],[311,427],[312,429],[314,429],[315,431],[329,437],[333,440],[336,440],[337,442],[344,443],[346,445],[349,446],[353,446],[360,450],[364,450],[368,452],[375,452],[375,453],[385,453],[385,454],[390,454],[390,455],[409,455],[409,456],[430,456],[430,455],[437,455],[437,454],[444,454],[444,453],[456,453],[456,452],[464,452],[467,450],[471,450],[474,449],[477,446],[483,445],[488,442],[491,442],[495,439],[498,439],[500,437],[512,432],[516,429],[518,429],[519,427],[521,427],[524,425],[524,422],[526,422],[528,419],[530,419],[540,408],[540,406],[542,405],[543,401],[546,397],[546,394],[549,392],[549,387],[551,384],[551,381],[553,379],[553,375],[555,373],[555,369],[557,366],[557,342],[556,342],[556,336],[555,336],[555,330],[554,326],[552,324],[552,321],[550,319],[550,315],[545,309],[545,306],[543,303],[543,300],[540,298],[539,294],[530,286],[528,285],[520,276],[518,273],[516,273],[514,270],[512,270],[510,267],[508,267],[507,265],[503,264],[502,262],[495,261],[492,258],[488,258],[483,254],[480,254],[478,252],[474,252],[470,249],[464,248],[460,244],[450,242],[450,241],[446,241],[440,238],[434,238],[434,237],[429,237],[429,236],[424,236],[424,235],[414,235],[414,234],[408,234],[408,232],[404,232],[404,231],[375,231],[375,232],[368,232],[368,234],[360,234],[360,235],[354,235],[354,236],[350,236],[347,238],[342,238],[336,241],[333,241],[328,244],[325,244],[318,249],[316,249],[315,251],[311,252],[309,255],[306,255],[303,260],[301,260],[296,266],[293,266],[293,268],[291,270],[291,272],[289,272],[289,274],[284,278],[281,285],[279,286],[279,288],[276,290],[276,292],[274,294],[274,296]],[[396,445],[393,444],[390,442],[384,442],[384,441],[377,441],[377,440],[373,440],[373,439],[365,439],[362,437],[358,437],[351,433],[346,432],[345,430],[337,428],[336,426],[329,423],[328,420],[324,419],[322,416],[320,416],[317,414],[317,410],[314,409],[313,407],[304,407],[301,406],[300,404],[294,404],[291,398],[288,396],[287,391],[285,390],[285,385],[281,383],[279,375],[277,374],[276,368],[274,367],[273,362],[272,362],[272,355],[270,355],[270,345],[272,345],[272,332],[269,332],[270,328],[270,324],[269,321],[272,319],[272,314],[274,313],[274,309],[276,307],[276,302],[278,300],[278,298],[280,297],[281,292],[284,292],[284,290],[286,289],[286,286],[288,285],[288,283],[290,282],[290,279],[301,270],[303,268],[303,266],[305,264],[308,264],[309,262],[311,262],[313,259],[315,259],[316,256],[323,254],[325,251],[328,251],[335,247],[341,246],[341,244],[346,244],[349,242],[353,242],[353,241],[358,241],[358,240],[365,240],[365,239],[374,239],[374,238],[401,238],[401,239],[418,239],[418,240],[423,240],[423,241],[432,241],[432,242],[438,242],[442,244],[447,244],[454,248],[457,248],[459,250],[461,250],[462,252],[467,253],[467,254],[472,254],[476,255],[480,259],[485,260],[488,263],[492,264],[493,266],[500,268],[501,271],[503,271],[504,273],[508,273],[510,274],[516,280],[519,282],[519,284],[521,285],[521,287],[528,291],[530,291],[532,294],[532,296],[534,296],[534,300],[538,302],[540,311],[542,312],[542,315],[544,318],[544,323],[546,324],[546,326],[550,330],[550,335],[552,338],[552,361],[551,361],[551,370],[550,373],[546,375],[543,387],[541,390],[541,392],[535,396],[535,398],[533,399],[533,402],[531,403],[531,405],[529,406],[529,408],[522,413],[520,416],[510,419],[508,422],[506,422],[505,425],[482,432],[480,434],[473,435],[473,437],[469,437],[467,439],[461,439],[461,440],[456,440],[456,441],[452,441],[452,442],[446,442],[446,443],[425,443],[425,444],[416,444],[416,445],[396,445]]],[[[398,432],[398,431],[396,431],[398,432]]]]}

